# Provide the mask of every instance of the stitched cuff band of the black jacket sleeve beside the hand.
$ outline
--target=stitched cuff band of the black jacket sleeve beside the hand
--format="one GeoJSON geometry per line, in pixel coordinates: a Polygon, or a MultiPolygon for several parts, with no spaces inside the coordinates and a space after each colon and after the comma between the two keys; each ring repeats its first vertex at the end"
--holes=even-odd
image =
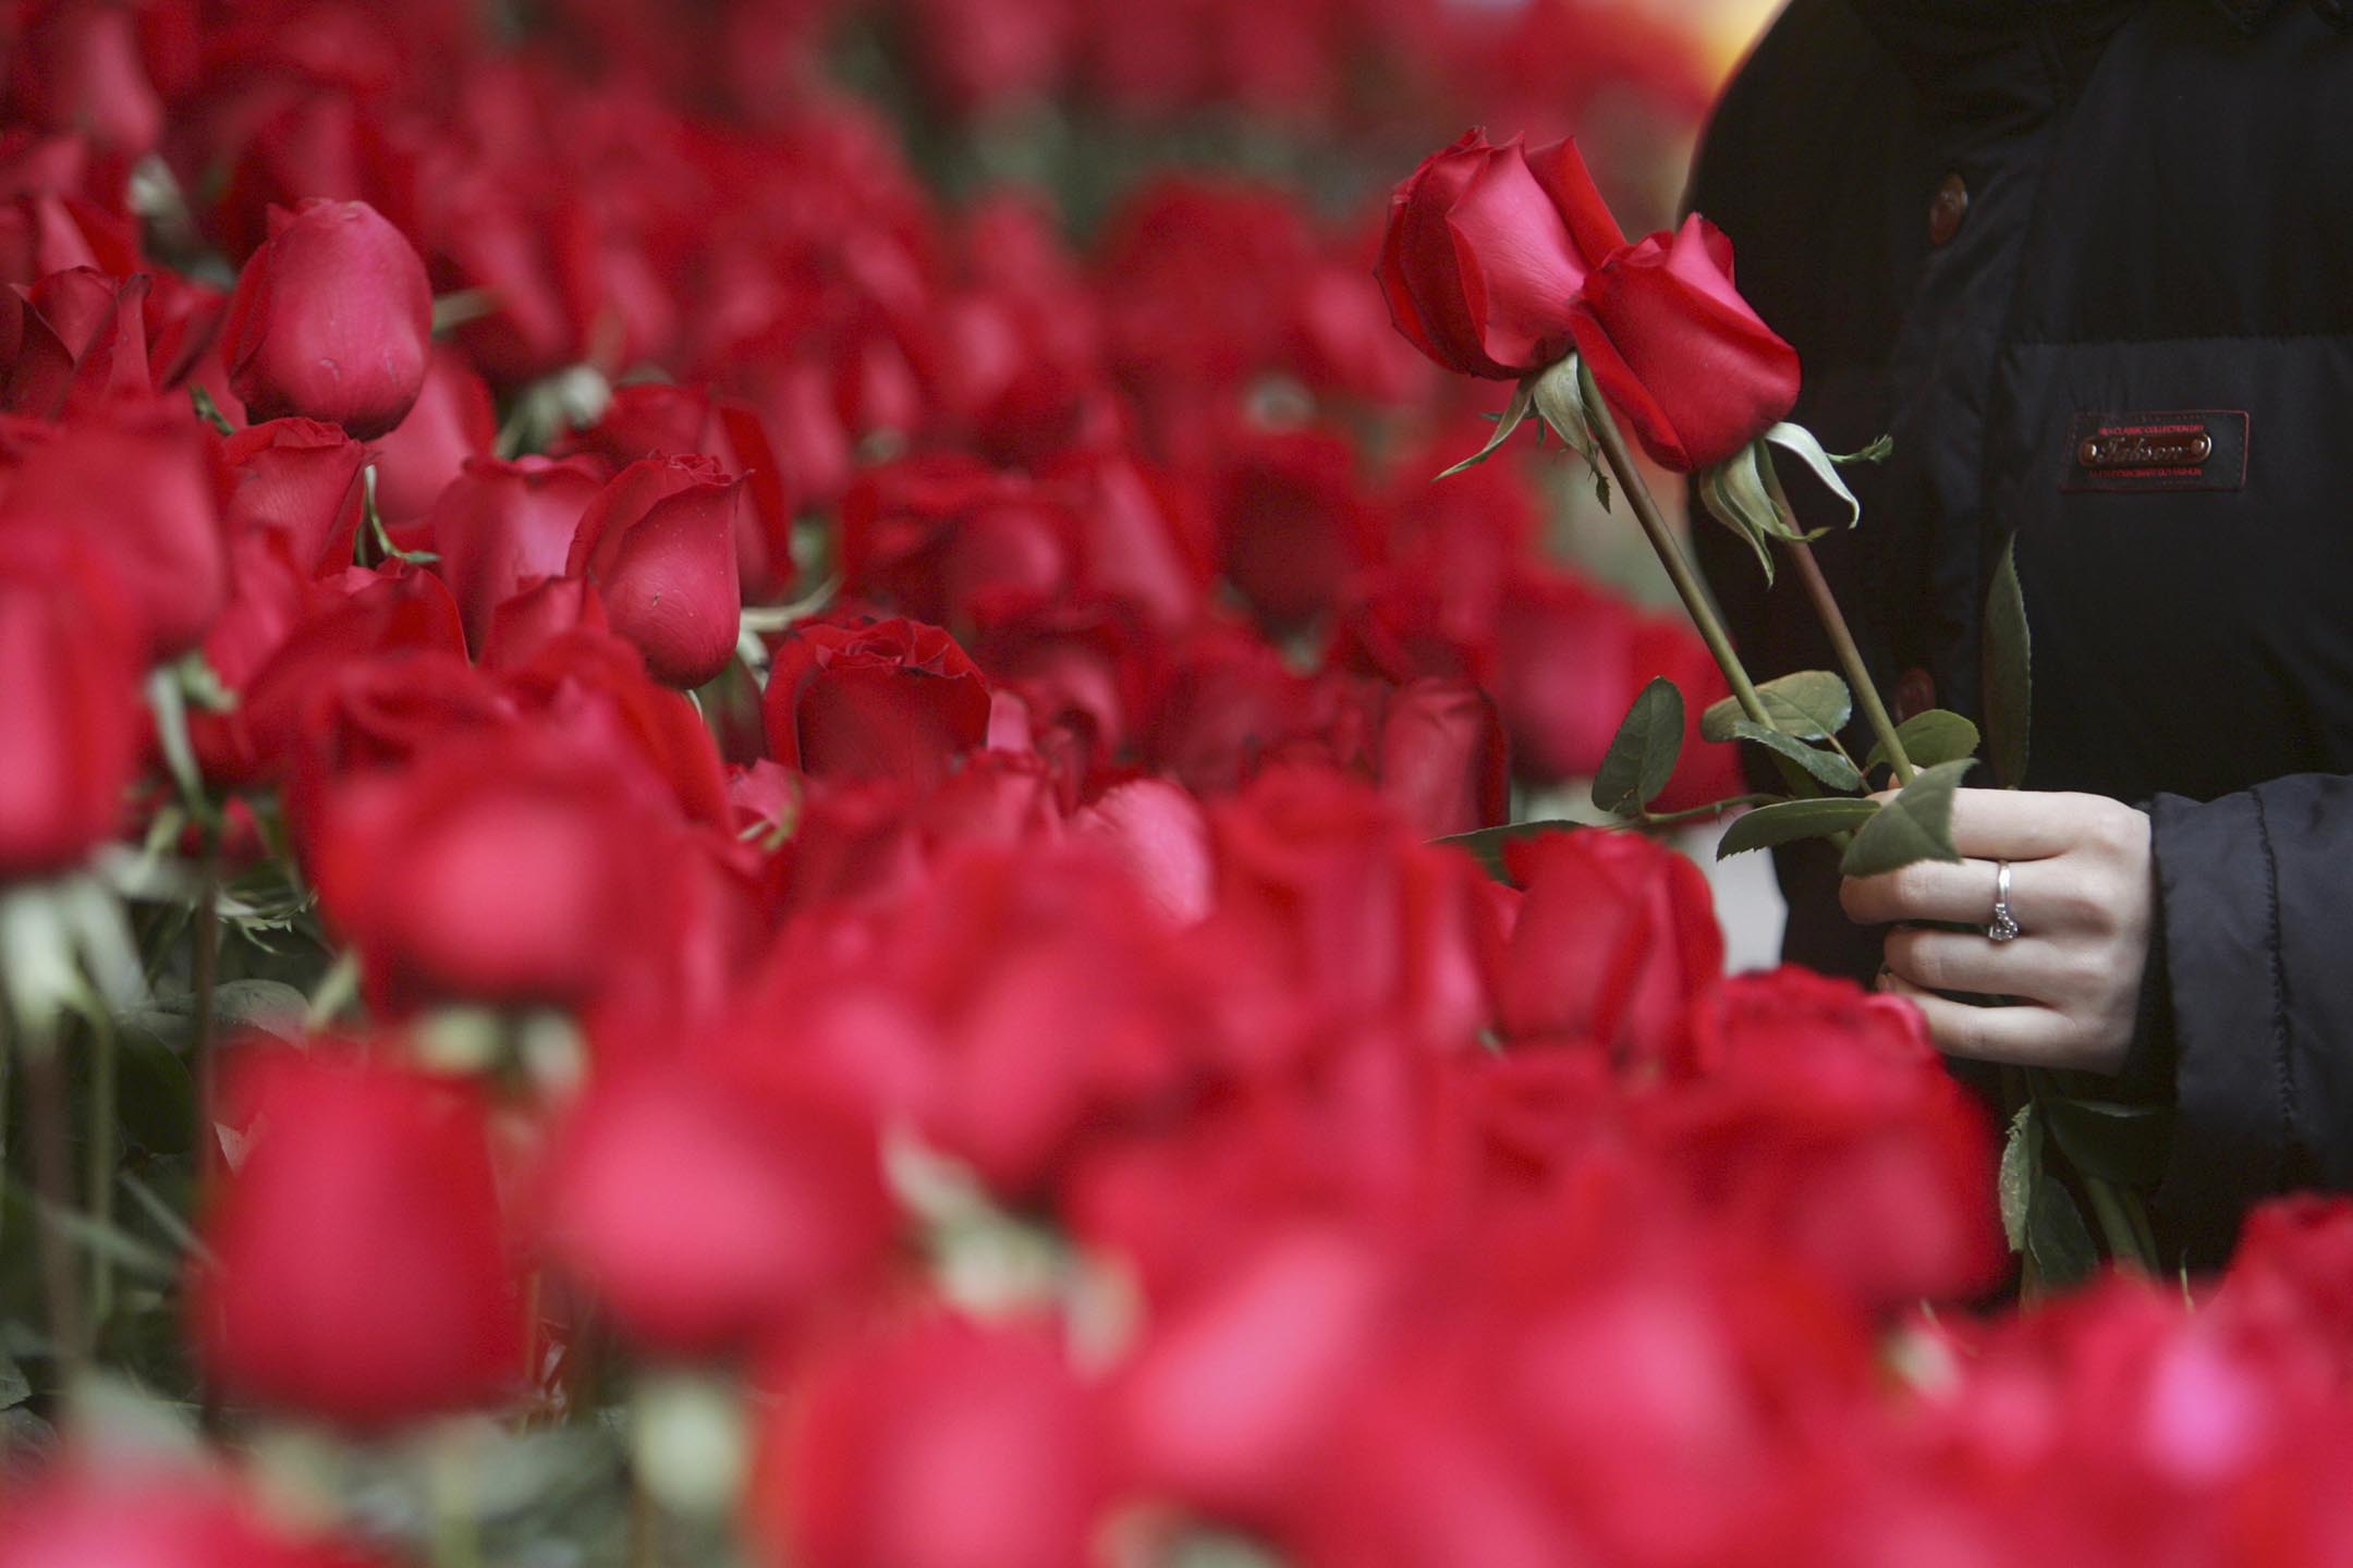
{"type": "Polygon", "coordinates": [[[2278,870],[2252,792],[2207,804],[2160,795],[2148,816],[2179,1105],[2153,1206],[2174,1248],[2212,1267],[2247,1206],[2275,1187],[2287,1150],[2271,1039],[2278,870]]]}

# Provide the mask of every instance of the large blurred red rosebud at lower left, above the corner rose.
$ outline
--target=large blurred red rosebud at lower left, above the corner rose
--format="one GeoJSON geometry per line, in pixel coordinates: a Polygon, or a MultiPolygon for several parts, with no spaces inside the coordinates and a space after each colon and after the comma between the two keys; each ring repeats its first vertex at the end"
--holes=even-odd
{"type": "Polygon", "coordinates": [[[473,1095],[318,1046],[252,1058],[228,1107],[249,1147],[191,1279],[221,1392],[362,1429],[508,1394],[522,1307],[473,1095]]]}

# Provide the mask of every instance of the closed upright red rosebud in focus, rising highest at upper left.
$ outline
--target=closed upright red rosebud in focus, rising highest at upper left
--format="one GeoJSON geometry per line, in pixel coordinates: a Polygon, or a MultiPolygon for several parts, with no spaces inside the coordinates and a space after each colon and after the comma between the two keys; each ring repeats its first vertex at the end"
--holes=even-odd
{"type": "Polygon", "coordinates": [[[228,386],[254,418],[301,414],[353,440],[416,404],[433,346],[433,287],[416,247],[367,202],[271,214],[271,240],[228,301],[228,386]]]}

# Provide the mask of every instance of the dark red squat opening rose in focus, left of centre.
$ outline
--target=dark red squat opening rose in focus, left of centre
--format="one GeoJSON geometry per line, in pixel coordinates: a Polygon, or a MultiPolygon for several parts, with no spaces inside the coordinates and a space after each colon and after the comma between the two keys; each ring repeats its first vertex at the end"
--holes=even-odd
{"type": "Polygon", "coordinates": [[[769,755],[802,773],[936,783],[988,738],[988,682],[936,625],[795,625],[762,715],[769,755]]]}

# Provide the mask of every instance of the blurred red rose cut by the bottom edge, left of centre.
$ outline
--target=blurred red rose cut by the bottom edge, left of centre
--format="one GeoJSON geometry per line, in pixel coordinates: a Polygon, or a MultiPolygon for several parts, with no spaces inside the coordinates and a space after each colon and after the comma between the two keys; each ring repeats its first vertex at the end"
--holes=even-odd
{"type": "Polygon", "coordinates": [[[1052,1335],[934,1321],[847,1345],[774,1406],[755,1509],[798,1568],[1080,1568],[1101,1422],[1052,1335]]]}

